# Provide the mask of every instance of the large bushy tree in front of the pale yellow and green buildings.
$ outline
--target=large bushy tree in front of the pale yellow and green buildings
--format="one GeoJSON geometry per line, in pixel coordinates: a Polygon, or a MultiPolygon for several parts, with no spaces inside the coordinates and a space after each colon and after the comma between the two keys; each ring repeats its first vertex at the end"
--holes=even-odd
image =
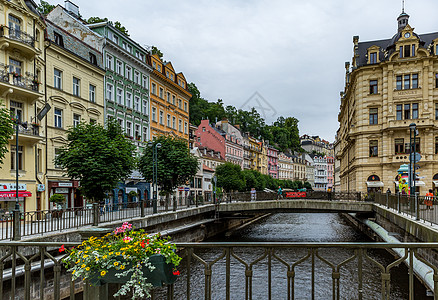
{"type": "Polygon", "coordinates": [[[135,168],[135,146],[115,120],[106,127],[80,123],[67,131],[67,141],[55,163],[80,180],[81,192],[90,201],[102,201],[135,168]]]}

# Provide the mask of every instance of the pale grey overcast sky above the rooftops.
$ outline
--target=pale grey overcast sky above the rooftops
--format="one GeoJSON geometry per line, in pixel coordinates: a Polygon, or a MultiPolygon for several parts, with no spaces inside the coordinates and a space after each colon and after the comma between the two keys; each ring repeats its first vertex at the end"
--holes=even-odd
{"type": "MultiPolygon", "coordinates": [[[[329,141],[353,36],[391,38],[402,6],[401,0],[72,2],[84,18],[119,20],[139,44],[157,46],[205,99],[263,107],[258,111],[268,124],[296,117],[300,134],[329,141]]],[[[405,11],[416,33],[438,31],[437,0],[407,0],[405,11]]]]}

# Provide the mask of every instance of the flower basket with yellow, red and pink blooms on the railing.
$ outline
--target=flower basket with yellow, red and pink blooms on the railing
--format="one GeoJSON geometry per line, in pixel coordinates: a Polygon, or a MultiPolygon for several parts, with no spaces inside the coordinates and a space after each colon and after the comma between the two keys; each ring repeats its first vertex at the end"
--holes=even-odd
{"type": "Polygon", "coordinates": [[[70,253],[64,263],[73,281],[82,277],[94,286],[120,283],[114,297],[132,291],[132,299],[148,297],[153,287],[175,282],[179,275],[175,267],[181,261],[169,238],[133,230],[127,222],[101,238],[90,237],[67,252],[70,253]]]}

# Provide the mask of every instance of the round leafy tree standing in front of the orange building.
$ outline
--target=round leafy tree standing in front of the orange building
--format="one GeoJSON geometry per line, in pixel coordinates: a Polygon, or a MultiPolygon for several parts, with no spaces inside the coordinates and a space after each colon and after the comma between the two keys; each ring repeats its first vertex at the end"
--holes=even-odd
{"type": "Polygon", "coordinates": [[[166,194],[174,188],[186,184],[198,171],[198,159],[190,153],[187,141],[171,136],[160,136],[153,141],[152,147],[146,147],[139,161],[139,170],[144,178],[152,182],[153,149],[157,149],[158,185],[166,194]]]}

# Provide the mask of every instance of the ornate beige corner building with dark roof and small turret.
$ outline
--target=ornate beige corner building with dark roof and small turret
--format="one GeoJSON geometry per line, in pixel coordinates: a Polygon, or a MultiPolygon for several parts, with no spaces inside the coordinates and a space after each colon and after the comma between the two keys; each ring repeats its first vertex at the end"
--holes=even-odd
{"type": "Polygon", "coordinates": [[[417,190],[424,195],[437,188],[438,32],[417,34],[408,20],[403,11],[398,31],[386,40],[353,38],[338,116],[342,191],[394,192],[397,170],[409,163],[411,123],[422,156],[417,190]]]}

